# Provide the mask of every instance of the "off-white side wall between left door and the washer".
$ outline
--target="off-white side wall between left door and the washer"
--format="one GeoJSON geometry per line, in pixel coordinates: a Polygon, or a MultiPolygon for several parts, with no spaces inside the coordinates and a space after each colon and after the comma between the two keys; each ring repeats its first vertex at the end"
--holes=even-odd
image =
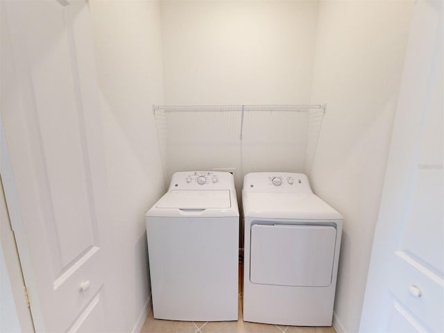
{"type": "Polygon", "coordinates": [[[107,163],[103,230],[109,332],[130,332],[150,295],[144,214],[164,191],[152,104],[163,103],[157,1],[90,1],[107,163]]]}

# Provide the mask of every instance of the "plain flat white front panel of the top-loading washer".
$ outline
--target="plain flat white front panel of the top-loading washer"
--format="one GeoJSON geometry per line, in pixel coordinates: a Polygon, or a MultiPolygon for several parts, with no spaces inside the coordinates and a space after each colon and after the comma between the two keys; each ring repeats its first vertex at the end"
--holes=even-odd
{"type": "Polygon", "coordinates": [[[239,217],[148,217],[154,318],[236,321],[239,217]]]}

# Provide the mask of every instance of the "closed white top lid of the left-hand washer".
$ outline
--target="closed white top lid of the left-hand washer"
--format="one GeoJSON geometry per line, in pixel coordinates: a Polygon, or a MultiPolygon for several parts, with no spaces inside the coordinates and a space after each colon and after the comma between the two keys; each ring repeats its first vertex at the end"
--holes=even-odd
{"type": "Polygon", "coordinates": [[[157,208],[178,208],[180,210],[202,210],[207,208],[230,208],[230,190],[184,190],[169,191],[160,200],[157,208]]]}

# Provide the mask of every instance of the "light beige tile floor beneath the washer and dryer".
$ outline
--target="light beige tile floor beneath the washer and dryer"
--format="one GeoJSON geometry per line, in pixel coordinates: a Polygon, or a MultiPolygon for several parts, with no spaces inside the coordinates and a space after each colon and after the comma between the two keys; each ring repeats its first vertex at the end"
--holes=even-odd
{"type": "MultiPolygon", "coordinates": [[[[239,291],[242,290],[243,266],[239,264],[239,291]]],[[[242,320],[242,293],[239,293],[238,321],[191,322],[164,321],[153,318],[153,309],[141,333],[336,333],[333,327],[302,327],[248,323],[242,320]]]]}

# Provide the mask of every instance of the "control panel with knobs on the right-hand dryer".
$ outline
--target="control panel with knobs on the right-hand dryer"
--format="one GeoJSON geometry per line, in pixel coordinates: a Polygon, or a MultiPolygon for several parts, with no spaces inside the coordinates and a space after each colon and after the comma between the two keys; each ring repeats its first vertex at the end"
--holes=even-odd
{"type": "Polygon", "coordinates": [[[244,178],[244,191],[313,193],[304,173],[253,172],[244,178]]]}

